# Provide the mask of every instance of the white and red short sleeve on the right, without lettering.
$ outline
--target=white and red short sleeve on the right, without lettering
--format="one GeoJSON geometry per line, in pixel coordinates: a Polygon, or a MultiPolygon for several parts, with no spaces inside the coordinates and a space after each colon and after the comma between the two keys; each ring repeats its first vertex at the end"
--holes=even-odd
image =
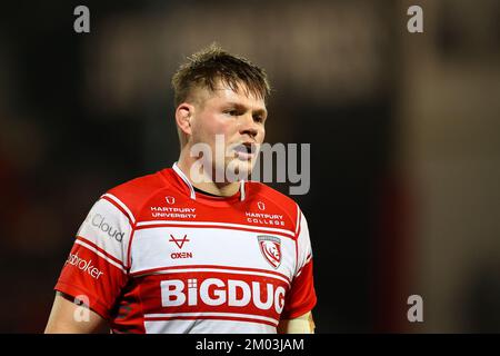
{"type": "Polygon", "coordinates": [[[300,209],[299,215],[296,275],[286,296],[281,319],[299,317],[312,310],[317,303],[308,222],[300,209]]]}

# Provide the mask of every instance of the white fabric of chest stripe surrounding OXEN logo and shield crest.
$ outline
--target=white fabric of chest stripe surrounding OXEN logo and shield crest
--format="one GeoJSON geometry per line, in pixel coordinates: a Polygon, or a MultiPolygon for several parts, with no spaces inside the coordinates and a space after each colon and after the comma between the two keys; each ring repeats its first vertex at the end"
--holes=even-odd
{"type": "Polygon", "coordinates": [[[191,268],[190,266],[220,266],[221,268],[260,270],[270,275],[281,275],[291,280],[296,266],[296,241],[288,237],[280,240],[281,263],[271,266],[262,254],[258,240],[259,233],[217,228],[200,229],[189,227],[146,227],[136,230],[131,247],[131,274],[141,274],[166,267],[191,268]],[[183,238],[182,249],[172,241],[183,238]],[[178,253],[190,254],[186,258],[172,258],[178,253]],[[232,267],[232,268],[231,268],[232,267]]]}

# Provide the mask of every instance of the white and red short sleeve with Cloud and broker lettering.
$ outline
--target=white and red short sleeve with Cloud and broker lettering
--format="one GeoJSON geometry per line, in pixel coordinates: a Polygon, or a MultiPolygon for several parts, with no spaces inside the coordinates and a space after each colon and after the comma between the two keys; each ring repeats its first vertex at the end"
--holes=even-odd
{"type": "Polygon", "coordinates": [[[56,290],[79,298],[108,319],[127,284],[130,215],[121,201],[102,196],[77,233],[56,290]]]}

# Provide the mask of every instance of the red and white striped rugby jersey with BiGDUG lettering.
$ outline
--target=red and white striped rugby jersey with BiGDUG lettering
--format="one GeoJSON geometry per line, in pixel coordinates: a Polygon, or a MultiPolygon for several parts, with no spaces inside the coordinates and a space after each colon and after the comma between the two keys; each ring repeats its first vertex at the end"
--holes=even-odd
{"type": "Polygon", "coordinates": [[[100,197],[56,289],[114,333],[276,333],[317,300],[292,199],[253,181],[229,198],[198,194],[177,165],[100,197]]]}

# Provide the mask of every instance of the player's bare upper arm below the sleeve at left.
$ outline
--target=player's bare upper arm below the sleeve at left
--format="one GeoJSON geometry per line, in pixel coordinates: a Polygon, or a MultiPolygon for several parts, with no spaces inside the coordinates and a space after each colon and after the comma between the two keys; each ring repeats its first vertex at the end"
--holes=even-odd
{"type": "Polygon", "coordinates": [[[90,334],[107,330],[109,332],[107,322],[99,314],[74,304],[70,296],[56,293],[46,334],[90,334]]]}

